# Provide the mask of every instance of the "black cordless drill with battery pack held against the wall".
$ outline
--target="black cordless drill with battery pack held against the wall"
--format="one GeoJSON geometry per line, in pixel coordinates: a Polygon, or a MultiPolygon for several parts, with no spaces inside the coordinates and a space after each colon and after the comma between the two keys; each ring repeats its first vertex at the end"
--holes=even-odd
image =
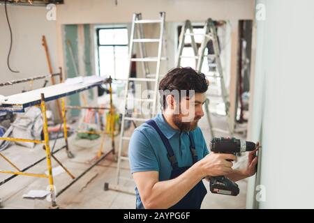
{"type": "MultiPolygon", "coordinates": [[[[236,138],[214,138],[211,140],[211,151],[214,153],[229,153],[236,155],[246,151],[254,151],[255,143],[252,141],[244,141],[236,138]]],[[[231,161],[231,160],[228,160],[231,161]]],[[[214,176],[210,178],[209,187],[214,194],[225,194],[237,196],[239,194],[239,186],[225,176],[214,176]]]]}

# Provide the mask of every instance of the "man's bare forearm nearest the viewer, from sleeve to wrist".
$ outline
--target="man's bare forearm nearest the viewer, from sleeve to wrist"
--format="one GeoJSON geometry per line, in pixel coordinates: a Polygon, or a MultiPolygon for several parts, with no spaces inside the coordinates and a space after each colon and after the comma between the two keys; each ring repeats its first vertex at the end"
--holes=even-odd
{"type": "Polygon", "coordinates": [[[144,203],[145,208],[170,208],[178,203],[203,176],[200,164],[196,163],[177,178],[158,181],[151,189],[151,196],[144,203]]]}

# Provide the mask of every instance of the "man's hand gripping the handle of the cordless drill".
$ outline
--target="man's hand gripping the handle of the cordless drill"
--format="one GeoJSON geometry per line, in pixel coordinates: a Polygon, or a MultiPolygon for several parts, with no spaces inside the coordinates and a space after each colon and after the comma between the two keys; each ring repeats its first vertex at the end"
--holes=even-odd
{"type": "Polygon", "coordinates": [[[232,172],[232,162],[227,160],[236,160],[233,154],[209,153],[199,161],[203,176],[223,176],[232,172]]]}

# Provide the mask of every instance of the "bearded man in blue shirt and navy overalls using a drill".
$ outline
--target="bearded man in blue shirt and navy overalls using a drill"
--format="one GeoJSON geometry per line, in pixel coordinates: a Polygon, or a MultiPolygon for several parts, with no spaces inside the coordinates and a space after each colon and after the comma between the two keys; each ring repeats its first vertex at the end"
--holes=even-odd
{"type": "Polygon", "coordinates": [[[209,82],[193,68],[174,68],[160,80],[161,111],[132,134],[130,169],[136,208],[200,208],[207,189],[203,178],[237,181],[255,174],[257,158],[246,169],[232,169],[232,154],[209,153],[197,122],[209,82]]]}

